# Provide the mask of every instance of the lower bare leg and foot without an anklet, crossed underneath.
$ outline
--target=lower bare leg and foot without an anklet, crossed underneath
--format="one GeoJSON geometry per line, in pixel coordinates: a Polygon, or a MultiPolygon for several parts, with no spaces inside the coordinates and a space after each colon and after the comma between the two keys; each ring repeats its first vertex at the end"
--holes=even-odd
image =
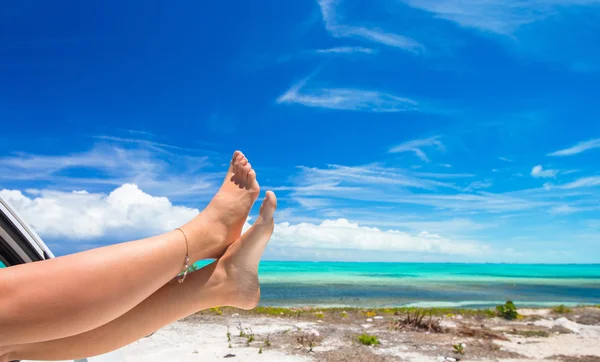
{"type": "Polygon", "coordinates": [[[99,328],[63,339],[18,345],[5,358],[71,360],[95,356],[202,309],[254,308],[260,298],[258,263],[273,232],[275,207],[275,195],[269,192],[252,228],[221,259],[190,274],[183,284],[168,283],[131,311],[99,328]]]}

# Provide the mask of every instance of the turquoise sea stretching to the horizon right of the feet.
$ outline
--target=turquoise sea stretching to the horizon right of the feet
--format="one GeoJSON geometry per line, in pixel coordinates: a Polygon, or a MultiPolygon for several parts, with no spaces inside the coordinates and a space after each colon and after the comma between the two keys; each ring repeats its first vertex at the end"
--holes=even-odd
{"type": "Polygon", "coordinates": [[[600,264],[274,262],[260,264],[265,306],[480,308],[600,304],[600,264]]]}

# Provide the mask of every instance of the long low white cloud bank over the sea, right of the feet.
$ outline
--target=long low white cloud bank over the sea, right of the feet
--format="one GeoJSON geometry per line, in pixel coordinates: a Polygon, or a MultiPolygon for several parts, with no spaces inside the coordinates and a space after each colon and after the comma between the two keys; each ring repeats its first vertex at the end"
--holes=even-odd
{"type": "Polygon", "coordinates": [[[476,256],[488,252],[483,244],[456,241],[422,231],[416,235],[398,230],[359,226],[346,219],[321,224],[283,222],[275,226],[271,244],[286,248],[377,250],[476,256]]]}

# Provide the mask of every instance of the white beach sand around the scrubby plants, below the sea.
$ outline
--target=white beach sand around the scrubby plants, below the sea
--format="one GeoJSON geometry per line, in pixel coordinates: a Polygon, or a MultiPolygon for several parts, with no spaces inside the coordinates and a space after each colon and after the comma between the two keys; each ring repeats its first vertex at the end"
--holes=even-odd
{"type": "MultiPolygon", "coordinates": [[[[447,333],[391,331],[393,316],[351,317],[343,321],[303,320],[302,318],[254,315],[194,315],[172,323],[156,333],[116,352],[126,362],[448,362],[461,361],[600,361],[599,311],[581,308],[571,315],[580,319],[591,313],[594,322],[581,324],[558,316],[550,310],[521,310],[525,320],[500,318],[481,320],[461,315],[443,317],[447,333]],[[460,327],[480,328],[483,324],[506,340],[464,337],[460,327]],[[231,341],[227,339],[227,331],[231,341]],[[255,336],[248,343],[240,337],[239,326],[255,336]],[[523,336],[511,330],[545,331],[546,336],[523,336]],[[377,335],[381,344],[363,346],[356,342],[362,333],[377,335]],[[299,335],[318,336],[312,352],[297,341],[299,335]],[[265,340],[271,346],[265,346],[265,340]],[[452,351],[452,344],[465,343],[464,355],[452,351]],[[259,353],[260,349],[262,353],[259,353]],[[560,357],[557,357],[560,356],[560,357]],[[585,359],[583,357],[585,356],[585,359]]],[[[589,320],[589,319],[588,319],[589,320]]],[[[102,362],[100,359],[99,362],[102,362]]]]}

